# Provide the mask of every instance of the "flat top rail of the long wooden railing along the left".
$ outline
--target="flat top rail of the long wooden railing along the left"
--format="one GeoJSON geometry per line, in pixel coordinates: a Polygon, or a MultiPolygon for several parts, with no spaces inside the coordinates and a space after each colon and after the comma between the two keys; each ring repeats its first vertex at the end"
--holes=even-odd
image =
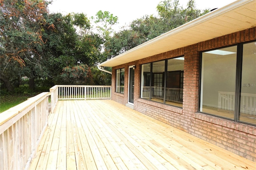
{"type": "Polygon", "coordinates": [[[20,103],[19,105],[16,105],[8,109],[7,111],[0,113],[0,126],[24,111],[25,109],[27,109],[28,107],[30,107],[31,105],[33,105],[34,103],[36,103],[38,100],[45,98],[46,96],[48,96],[48,92],[40,93],[39,95],[31,97],[23,103],[20,103]]]}

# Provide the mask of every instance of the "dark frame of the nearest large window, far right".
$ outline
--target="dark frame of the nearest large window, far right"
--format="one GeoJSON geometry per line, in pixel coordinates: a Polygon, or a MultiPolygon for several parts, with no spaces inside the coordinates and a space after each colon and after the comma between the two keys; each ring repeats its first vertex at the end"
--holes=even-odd
{"type": "Polygon", "coordinates": [[[206,51],[200,51],[200,73],[199,73],[199,88],[198,88],[198,113],[204,113],[206,115],[212,115],[212,116],[215,116],[215,117],[220,117],[220,118],[223,118],[223,119],[227,119],[227,120],[231,120],[231,121],[234,121],[234,122],[239,122],[239,123],[244,123],[244,124],[248,124],[248,125],[253,125],[255,126],[256,124],[253,124],[253,123],[249,123],[249,122],[244,122],[244,121],[240,121],[239,120],[239,117],[240,117],[240,106],[241,106],[241,89],[242,89],[242,59],[243,59],[243,49],[244,49],[244,44],[247,44],[247,43],[252,43],[252,42],[255,42],[255,40],[253,41],[250,41],[250,42],[243,42],[243,43],[238,43],[238,44],[233,44],[233,45],[228,45],[228,46],[224,46],[224,47],[220,47],[220,48],[214,48],[214,49],[209,49],[209,50],[206,50],[206,51]],[[206,113],[206,112],[202,112],[200,111],[200,104],[201,104],[201,86],[202,86],[202,54],[204,52],[207,52],[207,51],[213,51],[213,50],[216,50],[216,49],[223,49],[223,48],[226,48],[226,47],[234,47],[234,46],[237,46],[237,54],[236,54],[236,77],[235,77],[235,92],[234,92],[234,95],[235,95],[235,101],[234,101],[234,119],[230,119],[230,118],[227,118],[227,117],[222,117],[220,115],[214,115],[214,114],[211,114],[211,113],[206,113]]]}

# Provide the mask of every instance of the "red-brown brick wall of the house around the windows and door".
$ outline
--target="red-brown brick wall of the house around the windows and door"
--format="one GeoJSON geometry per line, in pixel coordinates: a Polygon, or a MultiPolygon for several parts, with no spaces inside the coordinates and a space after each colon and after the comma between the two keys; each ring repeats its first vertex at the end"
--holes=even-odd
{"type": "Polygon", "coordinates": [[[122,104],[128,102],[128,67],[136,65],[135,110],[256,162],[255,126],[197,113],[200,51],[251,40],[256,40],[256,27],[114,67],[113,75],[116,75],[116,69],[125,68],[125,89],[124,94],[115,93],[116,79],[112,76],[112,99],[122,104]],[[183,108],[140,99],[141,65],[181,55],[185,58],[183,108]]]}

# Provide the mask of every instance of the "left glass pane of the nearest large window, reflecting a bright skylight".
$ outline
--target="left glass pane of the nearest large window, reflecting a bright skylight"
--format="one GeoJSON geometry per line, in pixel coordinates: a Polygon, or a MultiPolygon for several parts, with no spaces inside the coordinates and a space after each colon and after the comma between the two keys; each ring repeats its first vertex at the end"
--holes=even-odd
{"type": "Polygon", "coordinates": [[[236,49],[202,53],[201,112],[234,119],[236,49]]]}

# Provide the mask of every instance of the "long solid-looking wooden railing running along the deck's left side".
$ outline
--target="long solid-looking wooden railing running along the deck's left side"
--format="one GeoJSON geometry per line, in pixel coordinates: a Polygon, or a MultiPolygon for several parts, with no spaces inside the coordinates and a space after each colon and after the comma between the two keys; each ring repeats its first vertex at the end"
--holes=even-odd
{"type": "Polygon", "coordinates": [[[0,169],[27,169],[48,124],[48,92],[0,113],[0,169]]]}

